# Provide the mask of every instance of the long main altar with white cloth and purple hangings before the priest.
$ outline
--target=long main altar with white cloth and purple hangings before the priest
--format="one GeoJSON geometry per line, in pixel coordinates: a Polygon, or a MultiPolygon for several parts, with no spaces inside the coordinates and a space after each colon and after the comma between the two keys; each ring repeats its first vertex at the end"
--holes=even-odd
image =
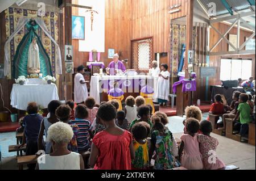
{"type": "Polygon", "coordinates": [[[138,96],[141,88],[148,85],[156,92],[158,77],[149,75],[106,75],[106,76],[92,76],[90,79],[90,96],[92,96],[96,103],[106,101],[107,92],[113,88],[114,82],[117,81],[119,88],[125,92],[125,99],[129,95],[138,96]]]}

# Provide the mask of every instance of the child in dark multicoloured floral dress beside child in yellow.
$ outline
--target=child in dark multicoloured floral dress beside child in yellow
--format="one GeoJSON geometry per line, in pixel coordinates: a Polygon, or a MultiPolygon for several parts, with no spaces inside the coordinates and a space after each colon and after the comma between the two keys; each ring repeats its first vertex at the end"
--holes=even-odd
{"type": "Polygon", "coordinates": [[[153,130],[148,153],[150,162],[154,151],[156,153],[154,169],[166,170],[180,167],[180,162],[175,158],[178,146],[172,133],[160,122],[155,122],[153,130]]]}

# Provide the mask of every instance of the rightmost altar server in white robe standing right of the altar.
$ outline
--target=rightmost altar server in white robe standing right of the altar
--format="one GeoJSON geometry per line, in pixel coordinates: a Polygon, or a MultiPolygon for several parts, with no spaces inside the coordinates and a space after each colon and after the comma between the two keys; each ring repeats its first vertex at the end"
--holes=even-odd
{"type": "Polygon", "coordinates": [[[168,102],[168,96],[170,94],[170,72],[168,71],[168,65],[162,64],[161,65],[161,72],[158,78],[158,88],[156,90],[156,99],[158,99],[158,103],[161,106],[166,106],[168,102]]]}

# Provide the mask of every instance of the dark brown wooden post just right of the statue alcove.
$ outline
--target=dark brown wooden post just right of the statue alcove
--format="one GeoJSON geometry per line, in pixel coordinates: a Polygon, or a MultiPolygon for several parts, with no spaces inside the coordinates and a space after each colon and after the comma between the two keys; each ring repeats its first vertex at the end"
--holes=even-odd
{"type": "MultiPolygon", "coordinates": [[[[72,0],[65,0],[65,12],[64,12],[64,45],[72,45],[72,7],[67,6],[67,3],[71,4],[72,0]]],[[[63,49],[64,51],[64,49],[63,49]]],[[[65,67],[65,60],[63,60],[63,64],[65,67]]],[[[65,100],[73,99],[73,83],[72,83],[72,74],[66,74],[65,71],[63,72],[65,74],[64,77],[64,90],[65,90],[65,100]]]]}

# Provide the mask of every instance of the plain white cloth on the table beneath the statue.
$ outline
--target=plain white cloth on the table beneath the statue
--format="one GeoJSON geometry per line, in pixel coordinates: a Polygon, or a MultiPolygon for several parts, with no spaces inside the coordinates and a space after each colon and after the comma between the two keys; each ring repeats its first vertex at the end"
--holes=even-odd
{"type": "Polygon", "coordinates": [[[57,87],[52,84],[19,85],[14,84],[11,90],[11,106],[18,110],[27,110],[27,104],[36,102],[39,106],[47,108],[52,100],[59,100],[57,87]]]}

